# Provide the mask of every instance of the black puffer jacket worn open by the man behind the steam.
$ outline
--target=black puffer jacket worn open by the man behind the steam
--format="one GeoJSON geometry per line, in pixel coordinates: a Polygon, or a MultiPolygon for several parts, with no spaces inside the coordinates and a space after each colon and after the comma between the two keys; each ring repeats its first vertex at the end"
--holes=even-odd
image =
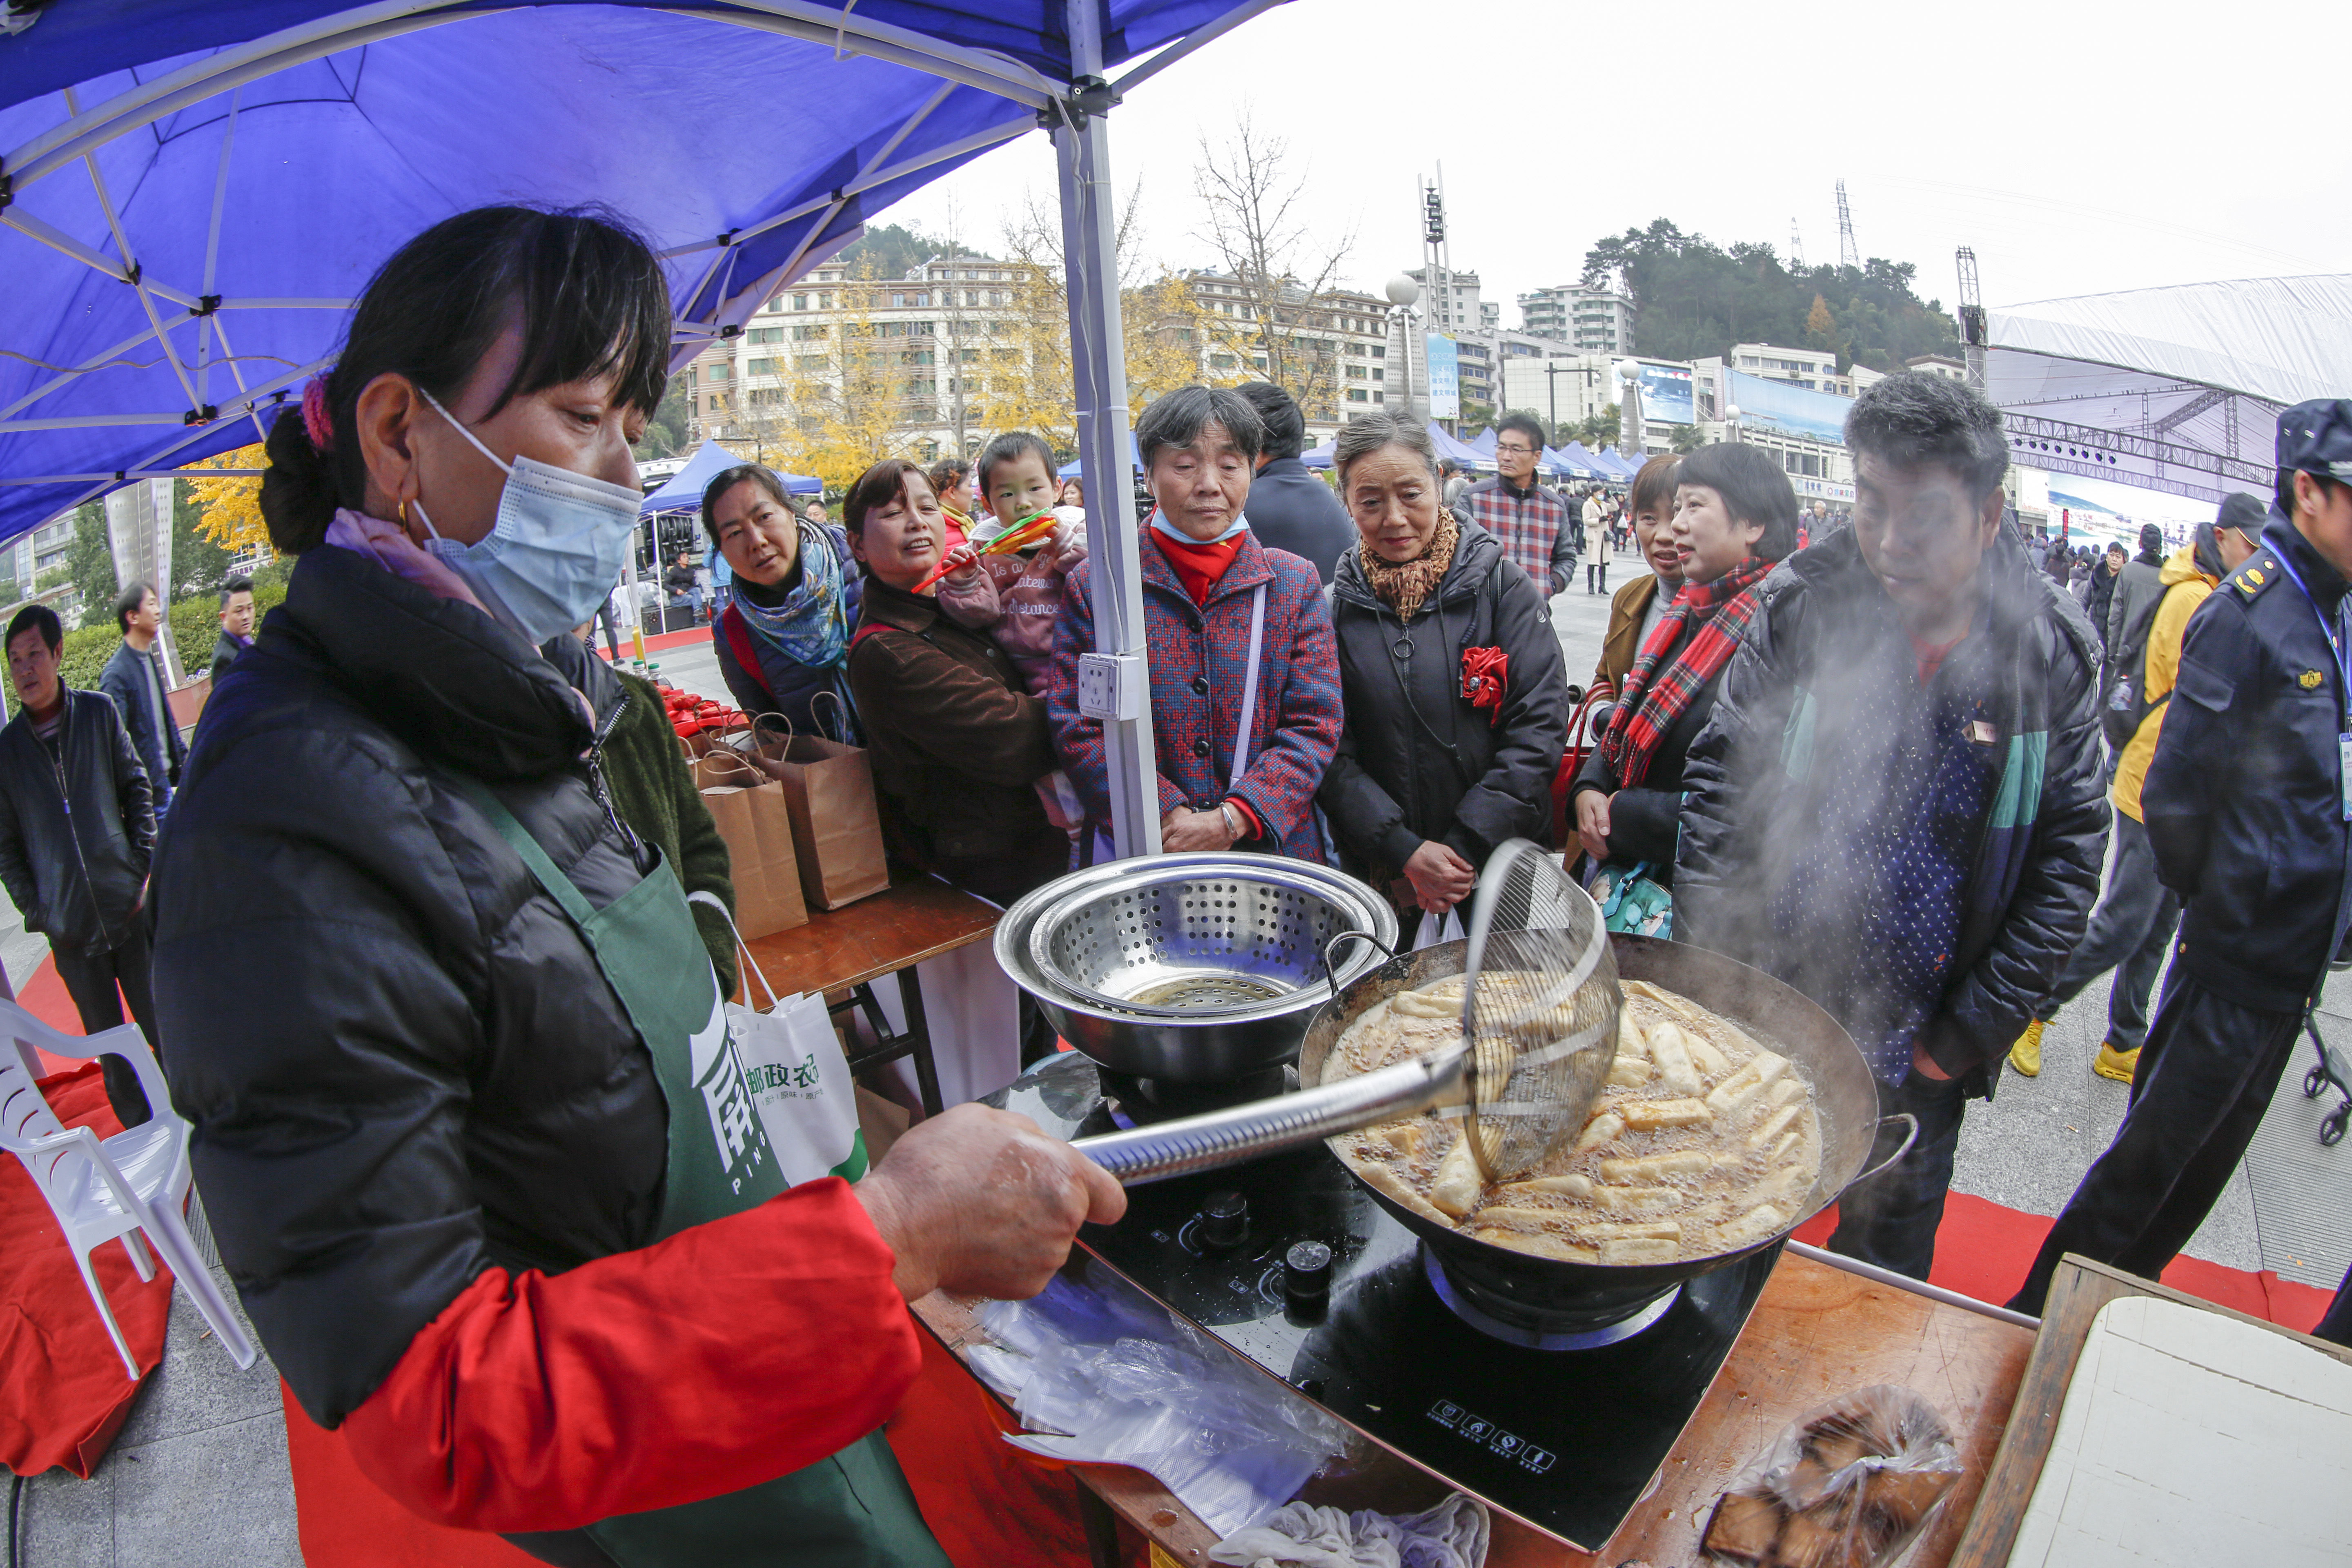
{"type": "MultiPolygon", "coordinates": [[[[1971,717],[1969,741],[1987,748],[1997,783],[1978,820],[1938,825],[1976,849],[1943,971],[1952,980],[1915,1039],[1950,1077],[1990,1093],[1987,1067],[2089,926],[2107,802],[2091,623],[2006,529],[1983,583],[1978,621],[1931,693],[1971,717]]],[[[1870,710],[1865,682],[1912,679],[1915,651],[1851,531],[1788,557],[1757,592],[1764,604],[1682,776],[1675,936],[1809,990],[1818,973],[1870,976],[1867,954],[1853,964],[1865,926],[1856,912],[1846,929],[1778,933],[1771,907],[1790,879],[1788,851],[1818,835],[1842,773],[1919,745],[1849,722],[1870,710]]]]}

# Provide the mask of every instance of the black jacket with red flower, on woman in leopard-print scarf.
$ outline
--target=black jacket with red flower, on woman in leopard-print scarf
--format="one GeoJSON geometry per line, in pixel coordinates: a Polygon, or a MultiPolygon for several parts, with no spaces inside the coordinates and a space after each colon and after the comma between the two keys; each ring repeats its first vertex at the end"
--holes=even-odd
{"type": "Polygon", "coordinates": [[[1411,658],[1397,658],[1397,611],[1371,592],[1348,550],[1331,583],[1348,724],[1317,804],[1341,863],[1381,886],[1423,839],[1470,865],[1510,837],[1552,837],[1552,773],[1569,743],[1569,686],[1543,592],[1475,522],[1437,592],[1414,614],[1411,658]],[[1501,646],[1503,717],[1463,701],[1463,649],[1501,646]]]}

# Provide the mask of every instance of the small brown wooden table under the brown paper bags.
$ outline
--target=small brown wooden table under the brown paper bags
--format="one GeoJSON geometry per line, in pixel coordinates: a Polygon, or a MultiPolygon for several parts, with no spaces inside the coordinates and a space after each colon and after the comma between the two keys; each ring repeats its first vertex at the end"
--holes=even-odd
{"type": "MultiPolygon", "coordinates": [[[[840,910],[811,910],[807,926],[776,931],[746,943],[760,973],[795,992],[849,992],[833,1004],[835,1013],[861,1009],[873,1025],[875,1044],[849,1053],[849,1070],[861,1072],[908,1056],[915,1060],[915,1086],[922,1112],[936,1117],[938,1067],[931,1060],[931,1027],[922,1011],[922,983],[915,964],[943,952],[969,947],[997,929],[997,905],[931,877],[903,872],[889,889],[840,910]],[[898,999],[906,1004],[906,1027],[891,1032],[875,1004],[873,983],[898,976],[898,999]]],[[[739,983],[748,985],[748,978],[739,983]]]]}

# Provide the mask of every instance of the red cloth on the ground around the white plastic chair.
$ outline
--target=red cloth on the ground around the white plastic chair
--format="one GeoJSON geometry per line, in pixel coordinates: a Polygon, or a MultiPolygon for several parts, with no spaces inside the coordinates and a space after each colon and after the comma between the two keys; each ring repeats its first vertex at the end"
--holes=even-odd
{"type": "MultiPolygon", "coordinates": [[[[40,1091],[66,1126],[87,1126],[99,1138],[122,1131],[96,1063],[42,1079],[40,1091]]],[[[172,1269],[158,1260],[155,1279],[139,1284],[118,1241],[94,1251],[89,1265],[132,1356],[153,1371],[172,1316],[172,1269]]],[[[0,1460],[19,1476],[64,1465],[87,1481],[129,1418],[139,1385],[122,1375],[122,1356],[82,1288],[66,1232],[14,1157],[0,1157],[0,1366],[7,1368],[0,1460]]]]}

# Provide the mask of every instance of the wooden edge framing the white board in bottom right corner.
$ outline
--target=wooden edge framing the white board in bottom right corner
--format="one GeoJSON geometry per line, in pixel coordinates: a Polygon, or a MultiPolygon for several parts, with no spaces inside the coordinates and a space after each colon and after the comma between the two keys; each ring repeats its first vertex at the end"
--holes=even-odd
{"type": "Polygon", "coordinates": [[[1983,1502],[1969,1519],[1966,1535],[1952,1552],[1950,1568],[2002,1568],[2018,1544],[2018,1526],[2025,1507],[2034,1500],[2042,1481],[2042,1465],[2058,1439],[2058,1413],[2065,1408],[2067,1387],[2074,1382],[2074,1363],[2082,1359],[2084,1340],[2091,1338],[2091,1319],[2107,1302],[2124,1295],[2154,1295],[2159,1300],[2234,1316],[2267,1333],[2281,1333],[2298,1345],[2324,1349],[2338,1361],[2352,1363],[2352,1349],[2314,1340],[2293,1328],[2265,1324],[2258,1316],[2216,1307],[2213,1302],[2183,1295],[2150,1279],[2110,1269],[2103,1262],[2067,1253],[2051,1274],[2049,1302],[2042,1309],[2042,1333],[2034,1340],[2032,1361],[2025,1363],[2025,1380],[2018,1387],[2016,1420],[2002,1434],[2002,1448],[1992,1455],[1992,1472],[1985,1476],[1983,1502]]]}

